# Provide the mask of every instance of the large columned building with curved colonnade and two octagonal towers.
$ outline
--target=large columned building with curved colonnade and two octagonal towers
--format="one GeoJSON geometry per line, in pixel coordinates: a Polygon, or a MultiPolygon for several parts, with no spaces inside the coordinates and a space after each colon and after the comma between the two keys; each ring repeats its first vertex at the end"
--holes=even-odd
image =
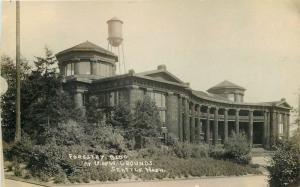
{"type": "Polygon", "coordinates": [[[146,95],[155,101],[163,129],[179,141],[224,143],[245,132],[251,146],[269,149],[276,139],[289,137],[291,106],[285,99],[246,103],[245,88],[229,81],[196,91],[170,73],[165,65],[153,71],[116,75],[118,57],[89,41],[56,54],[64,90],[85,111],[88,97],[116,106],[125,101],[133,109],[146,95]]]}

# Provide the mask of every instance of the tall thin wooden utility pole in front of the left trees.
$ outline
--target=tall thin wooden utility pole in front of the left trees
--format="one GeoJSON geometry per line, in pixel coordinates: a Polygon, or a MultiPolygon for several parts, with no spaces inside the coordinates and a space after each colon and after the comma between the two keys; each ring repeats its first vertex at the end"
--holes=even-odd
{"type": "Polygon", "coordinates": [[[21,141],[21,85],[20,85],[20,1],[16,0],[16,132],[15,143],[21,141]]]}

